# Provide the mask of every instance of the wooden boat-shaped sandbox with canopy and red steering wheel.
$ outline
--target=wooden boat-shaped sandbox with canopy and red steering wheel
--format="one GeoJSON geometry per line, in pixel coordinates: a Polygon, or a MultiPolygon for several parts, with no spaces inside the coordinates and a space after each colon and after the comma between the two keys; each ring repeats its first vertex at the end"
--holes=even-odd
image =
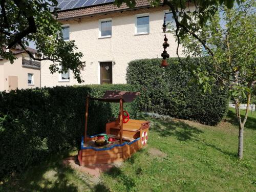
{"type": "Polygon", "coordinates": [[[102,98],[87,96],[86,124],[81,149],[78,152],[78,160],[81,166],[120,162],[130,158],[132,154],[146,145],[150,122],[130,119],[129,114],[123,111],[123,103],[134,101],[138,95],[138,92],[106,91],[102,98]],[[115,121],[106,123],[105,125],[106,136],[115,141],[98,146],[96,141],[99,135],[87,136],[90,100],[119,102],[119,117],[115,121]]]}

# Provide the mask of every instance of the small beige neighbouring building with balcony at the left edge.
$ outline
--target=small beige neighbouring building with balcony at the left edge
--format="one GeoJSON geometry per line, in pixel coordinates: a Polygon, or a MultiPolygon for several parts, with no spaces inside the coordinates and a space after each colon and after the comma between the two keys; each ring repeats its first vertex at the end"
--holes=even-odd
{"type": "MultiPolygon", "coordinates": [[[[27,48],[37,57],[36,50],[27,48]]],[[[17,57],[14,63],[0,57],[0,91],[40,87],[40,62],[20,49],[10,49],[17,57]]]]}

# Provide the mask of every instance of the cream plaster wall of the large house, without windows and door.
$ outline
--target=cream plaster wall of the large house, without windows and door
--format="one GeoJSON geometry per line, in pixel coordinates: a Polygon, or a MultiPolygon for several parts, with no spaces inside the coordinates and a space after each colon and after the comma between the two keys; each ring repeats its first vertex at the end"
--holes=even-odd
{"type": "MultiPolygon", "coordinates": [[[[78,51],[84,54],[86,67],[81,71],[85,84],[100,83],[100,61],[114,61],[113,83],[125,83],[127,63],[142,58],[161,58],[163,52],[162,33],[164,8],[139,9],[93,17],[82,18],[81,22],[68,20],[70,40],[75,40],[78,51]],[[136,14],[149,13],[150,34],[135,35],[136,14]],[[112,18],[112,37],[99,38],[99,19],[112,18]]],[[[177,44],[172,34],[167,33],[167,53],[176,57],[177,44]]],[[[181,54],[180,48],[180,54],[181,54]]],[[[78,84],[70,74],[69,82],[59,82],[59,74],[50,74],[49,61],[41,62],[41,86],[78,84]]],[[[159,64],[160,65],[160,64],[159,64]]]]}

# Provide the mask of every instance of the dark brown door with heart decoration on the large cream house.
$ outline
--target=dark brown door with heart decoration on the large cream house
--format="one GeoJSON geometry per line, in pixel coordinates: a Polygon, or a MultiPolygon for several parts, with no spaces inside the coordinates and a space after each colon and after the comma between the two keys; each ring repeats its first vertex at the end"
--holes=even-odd
{"type": "Polygon", "coordinates": [[[112,62],[100,62],[100,84],[112,83],[112,62]]]}

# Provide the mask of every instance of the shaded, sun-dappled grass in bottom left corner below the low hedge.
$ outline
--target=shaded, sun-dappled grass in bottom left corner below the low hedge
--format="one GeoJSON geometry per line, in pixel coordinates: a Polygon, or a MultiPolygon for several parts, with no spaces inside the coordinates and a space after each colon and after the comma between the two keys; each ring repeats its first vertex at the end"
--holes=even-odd
{"type": "Polygon", "coordinates": [[[89,176],[63,165],[62,160],[65,157],[68,155],[53,155],[30,167],[0,185],[0,191],[109,191],[103,184],[90,184],[89,176]]]}

